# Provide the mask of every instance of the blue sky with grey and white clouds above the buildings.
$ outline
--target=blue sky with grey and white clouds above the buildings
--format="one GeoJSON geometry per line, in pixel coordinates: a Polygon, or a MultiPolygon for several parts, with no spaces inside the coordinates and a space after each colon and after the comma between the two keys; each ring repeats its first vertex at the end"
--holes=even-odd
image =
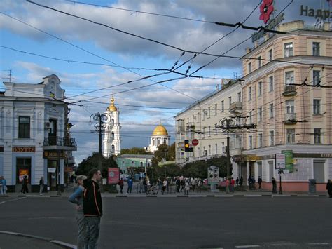
{"type": "MultiPolygon", "coordinates": [[[[258,0],[31,1],[0,1],[1,81],[8,70],[20,83],[56,74],[66,101],[81,101],[69,105],[76,163],[97,152],[90,115],[105,112],[111,96],[120,109],[121,148],[148,146],[159,123],[174,142],[178,112],[216,90],[221,78],[242,75],[239,59],[213,55],[240,57],[254,46],[252,30],[214,22],[264,26],[258,0]],[[170,72],[175,64],[182,66],[170,72]]],[[[326,0],[275,0],[274,15],[314,25],[315,18],[300,15],[301,5],[328,8],[326,0]]]]}

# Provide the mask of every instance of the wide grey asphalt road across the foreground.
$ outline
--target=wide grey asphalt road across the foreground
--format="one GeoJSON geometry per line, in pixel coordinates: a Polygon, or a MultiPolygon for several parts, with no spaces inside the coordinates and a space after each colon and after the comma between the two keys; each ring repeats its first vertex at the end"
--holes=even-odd
{"type": "MultiPolygon", "coordinates": [[[[99,248],[331,248],[332,198],[103,198],[99,248]]],[[[76,244],[67,198],[0,200],[0,230],[76,244]]],[[[0,246],[1,247],[1,246],[0,246]]]]}

